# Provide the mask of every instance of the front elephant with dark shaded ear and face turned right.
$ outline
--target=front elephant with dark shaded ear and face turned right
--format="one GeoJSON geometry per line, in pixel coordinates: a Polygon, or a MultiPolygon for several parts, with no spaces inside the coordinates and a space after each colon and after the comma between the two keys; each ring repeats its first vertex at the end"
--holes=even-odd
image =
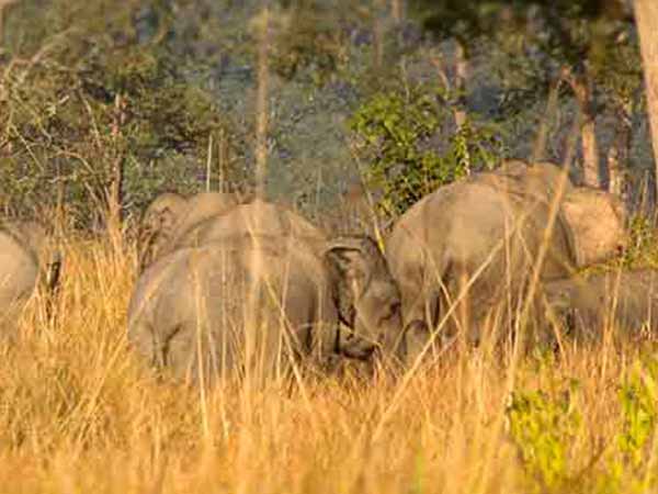
{"type": "Polygon", "coordinates": [[[400,330],[399,293],[372,239],[338,238],[321,256],[290,240],[238,235],[160,258],[133,294],[131,344],[179,378],[198,382],[202,369],[208,383],[246,363],[271,377],[291,359],[364,359],[378,335],[400,330]]]}

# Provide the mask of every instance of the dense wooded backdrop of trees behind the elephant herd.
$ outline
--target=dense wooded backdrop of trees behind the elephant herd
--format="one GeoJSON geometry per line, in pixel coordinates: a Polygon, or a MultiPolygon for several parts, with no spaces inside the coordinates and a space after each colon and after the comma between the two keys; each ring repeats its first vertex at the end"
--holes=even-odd
{"type": "MultiPolygon", "coordinates": [[[[131,217],[162,190],[251,190],[263,2],[0,4],[4,211],[89,226],[107,201],[131,217]]],[[[653,201],[631,2],[274,1],[268,42],[266,190],[309,215],[364,182],[394,216],[574,145],[577,180],[653,201]]]]}

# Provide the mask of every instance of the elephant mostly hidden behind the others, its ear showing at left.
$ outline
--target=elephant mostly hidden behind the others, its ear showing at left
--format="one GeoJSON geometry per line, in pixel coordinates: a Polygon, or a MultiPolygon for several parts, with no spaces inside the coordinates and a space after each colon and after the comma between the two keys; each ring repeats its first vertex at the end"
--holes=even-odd
{"type": "Polygon", "coordinates": [[[180,237],[197,223],[219,215],[237,205],[231,193],[200,192],[189,199],[166,192],[146,209],[139,233],[139,272],[160,256],[174,250],[180,237]]]}

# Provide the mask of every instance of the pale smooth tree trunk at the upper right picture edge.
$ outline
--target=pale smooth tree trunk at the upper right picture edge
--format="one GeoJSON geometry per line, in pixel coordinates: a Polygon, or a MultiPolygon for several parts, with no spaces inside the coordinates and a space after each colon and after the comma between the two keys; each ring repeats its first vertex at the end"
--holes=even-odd
{"type": "MultiPolygon", "coordinates": [[[[658,2],[656,0],[635,0],[635,22],[644,63],[654,145],[654,166],[656,167],[656,177],[658,177],[658,2]]],[[[658,197],[658,179],[656,179],[656,188],[658,197]]]]}

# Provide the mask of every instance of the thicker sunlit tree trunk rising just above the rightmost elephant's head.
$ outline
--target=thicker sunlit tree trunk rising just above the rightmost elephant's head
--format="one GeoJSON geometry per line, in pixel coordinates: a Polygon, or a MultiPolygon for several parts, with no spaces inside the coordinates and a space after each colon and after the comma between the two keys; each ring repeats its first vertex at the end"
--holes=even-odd
{"type": "Polygon", "coordinates": [[[582,181],[589,187],[601,187],[599,178],[599,144],[597,123],[592,109],[592,83],[589,76],[568,74],[569,82],[581,114],[580,141],[582,145],[582,181]]]}

